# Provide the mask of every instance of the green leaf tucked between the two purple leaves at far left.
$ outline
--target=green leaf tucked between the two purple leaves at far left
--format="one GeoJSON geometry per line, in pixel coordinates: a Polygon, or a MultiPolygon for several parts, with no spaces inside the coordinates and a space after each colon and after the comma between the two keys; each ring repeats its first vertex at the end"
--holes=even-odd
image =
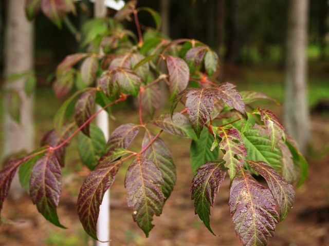
{"type": "MultiPolygon", "coordinates": [[[[38,150],[31,152],[29,155],[38,153],[45,149],[46,148],[40,148],[38,150]]],[[[43,152],[43,153],[33,156],[28,161],[26,161],[19,169],[20,183],[21,183],[21,186],[26,190],[27,193],[30,193],[30,178],[31,178],[31,172],[35,165],[35,162],[38,161],[42,156],[44,156],[45,153],[46,152],[43,152]]]]}

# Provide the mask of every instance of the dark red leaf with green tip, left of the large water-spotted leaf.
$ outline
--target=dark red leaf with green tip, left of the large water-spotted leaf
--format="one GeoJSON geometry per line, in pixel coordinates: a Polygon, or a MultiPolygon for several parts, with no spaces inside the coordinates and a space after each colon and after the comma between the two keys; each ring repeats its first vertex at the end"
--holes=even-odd
{"type": "MultiPolygon", "coordinates": [[[[210,228],[210,206],[214,207],[215,196],[220,190],[221,182],[226,175],[224,160],[208,161],[197,169],[192,180],[192,200],[194,200],[195,214],[204,222],[208,230],[210,228]]],[[[214,234],[215,235],[215,234],[214,234]]]]}

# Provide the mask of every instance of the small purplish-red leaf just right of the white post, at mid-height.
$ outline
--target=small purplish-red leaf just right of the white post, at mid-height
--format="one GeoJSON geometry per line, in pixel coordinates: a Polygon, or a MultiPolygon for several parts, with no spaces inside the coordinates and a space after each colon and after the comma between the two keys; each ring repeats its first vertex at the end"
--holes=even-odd
{"type": "Polygon", "coordinates": [[[139,128],[135,124],[129,123],[121,125],[109,136],[107,145],[111,150],[116,148],[128,149],[138,132],[139,128]]]}

